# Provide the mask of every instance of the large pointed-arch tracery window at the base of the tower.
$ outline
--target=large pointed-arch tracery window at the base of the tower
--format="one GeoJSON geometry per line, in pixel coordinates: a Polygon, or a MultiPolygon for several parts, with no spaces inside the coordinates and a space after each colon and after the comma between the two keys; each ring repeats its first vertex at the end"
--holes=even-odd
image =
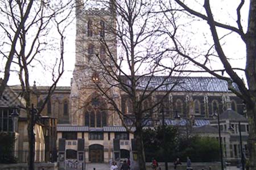
{"type": "Polygon", "coordinates": [[[107,105],[96,92],[86,101],[84,125],[90,128],[101,128],[107,125],[107,105]]]}

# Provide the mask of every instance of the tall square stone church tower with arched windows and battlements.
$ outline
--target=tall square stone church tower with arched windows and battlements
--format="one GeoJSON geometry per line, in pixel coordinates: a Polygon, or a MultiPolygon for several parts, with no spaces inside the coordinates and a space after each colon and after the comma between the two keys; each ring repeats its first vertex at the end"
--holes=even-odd
{"type": "Polygon", "coordinates": [[[92,6],[86,6],[82,0],[76,0],[76,63],[71,81],[70,120],[72,125],[90,128],[120,126],[117,113],[99,90],[110,89],[108,96],[117,103],[121,100],[118,89],[109,88],[108,75],[102,69],[113,68],[110,54],[117,58],[115,35],[110,32],[115,28],[115,13],[111,3],[92,2],[92,6]]]}

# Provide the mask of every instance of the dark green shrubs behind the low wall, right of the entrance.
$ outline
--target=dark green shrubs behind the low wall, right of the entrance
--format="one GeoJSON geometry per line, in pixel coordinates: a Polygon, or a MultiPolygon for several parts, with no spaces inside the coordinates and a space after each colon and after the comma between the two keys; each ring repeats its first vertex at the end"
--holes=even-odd
{"type": "Polygon", "coordinates": [[[152,158],[164,162],[164,150],[167,151],[168,162],[174,162],[177,157],[185,162],[187,156],[191,158],[192,162],[215,162],[220,160],[219,145],[216,138],[183,137],[174,126],[167,126],[165,133],[166,146],[163,146],[162,127],[144,130],[143,142],[146,162],[151,162],[152,158]]]}

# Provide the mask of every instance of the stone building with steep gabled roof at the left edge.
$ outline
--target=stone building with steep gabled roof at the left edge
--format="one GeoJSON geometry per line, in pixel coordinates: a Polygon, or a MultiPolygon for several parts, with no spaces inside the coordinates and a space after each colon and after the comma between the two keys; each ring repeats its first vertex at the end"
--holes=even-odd
{"type": "MultiPolygon", "coordinates": [[[[2,79],[0,79],[0,83],[2,79]]],[[[14,133],[14,156],[16,162],[27,163],[28,156],[28,133],[27,133],[27,113],[23,109],[24,100],[13,91],[12,88],[6,86],[3,97],[0,98],[0,135],[2,133],[14,133]],[[17,109],[18,108],[18,109],[17,109]],[[13,119],[16,111],[17,119],[13,119]]],[[[35,162],[45,161],[45,139],[42,124],[36,122],[34,126],[35,134],[35,162]]],[[[2,144],[1,144],[2,145],[2,144]]],[[[2,145],[4,148],[5,146],[2,145]]],[[[1,152],[1,151],[0,151],[1,152]]]]}

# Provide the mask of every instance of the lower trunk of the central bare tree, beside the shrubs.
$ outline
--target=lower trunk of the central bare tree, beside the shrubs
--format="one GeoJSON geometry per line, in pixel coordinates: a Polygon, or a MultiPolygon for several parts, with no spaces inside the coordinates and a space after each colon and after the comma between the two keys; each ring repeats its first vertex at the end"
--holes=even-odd
{"type": "Polygon", "coordinates": [[[136,127],[135,139],[137,144],[139,170],[146,170],[146,160],[144,156],[144,146],[143,146],[143,140],[142,140],[141,127],[136,127]]]}

